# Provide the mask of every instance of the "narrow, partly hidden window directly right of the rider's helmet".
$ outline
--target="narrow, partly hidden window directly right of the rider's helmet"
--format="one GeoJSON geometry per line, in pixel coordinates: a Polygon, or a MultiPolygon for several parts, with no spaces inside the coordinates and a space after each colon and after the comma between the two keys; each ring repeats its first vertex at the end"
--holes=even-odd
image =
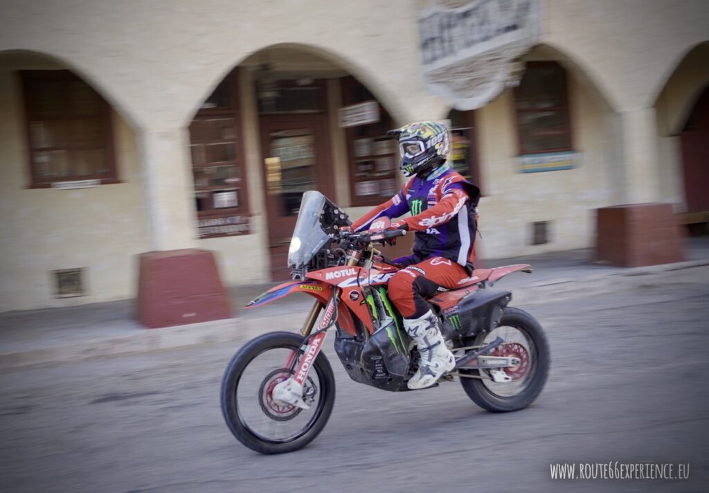
{"type": "Polygon", "coordinates": [[[480,187],[478,148],[475,140],[475,111],[448,113],[450,120],[450,165],[461,175],[480,187]]]}

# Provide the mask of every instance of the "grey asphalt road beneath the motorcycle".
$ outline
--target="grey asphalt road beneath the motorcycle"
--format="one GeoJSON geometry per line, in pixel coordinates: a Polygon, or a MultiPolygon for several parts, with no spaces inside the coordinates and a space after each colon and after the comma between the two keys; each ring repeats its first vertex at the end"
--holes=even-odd
{"type": "MultiPolygon", "coordinates": [[[[236,347],[4,372],[0,488],[12,492],[709,491],[709,279],[537,304],[552,344],[530,408],[490,414],[458,382],[392,394],[351,382],[307,448],[264,456],[223,423],[236,347]],[[549,465],[690,465],[688,480],[552,480],[549,465]]],[[[578,467],[578,466],[577,466],[578,467]]]]}

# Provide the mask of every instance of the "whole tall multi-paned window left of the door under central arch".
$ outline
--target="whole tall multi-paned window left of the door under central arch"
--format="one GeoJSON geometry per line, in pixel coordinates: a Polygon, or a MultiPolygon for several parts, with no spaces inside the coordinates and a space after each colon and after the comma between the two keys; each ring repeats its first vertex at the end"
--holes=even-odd
{"type": "Polygon", "coordinates": [[[189,126],[200,238],[249,233],[238,106],[238,78],[231,72],[189,126]]]}

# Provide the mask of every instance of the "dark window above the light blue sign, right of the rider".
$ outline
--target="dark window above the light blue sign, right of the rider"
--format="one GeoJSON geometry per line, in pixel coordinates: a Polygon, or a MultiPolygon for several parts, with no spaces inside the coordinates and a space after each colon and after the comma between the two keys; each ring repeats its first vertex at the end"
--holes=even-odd
{"type": "Polygon", "coordinates": [[[573,150],[566,71],[557,62],[527,62],[515,89],[520,155],[573,150]]]}

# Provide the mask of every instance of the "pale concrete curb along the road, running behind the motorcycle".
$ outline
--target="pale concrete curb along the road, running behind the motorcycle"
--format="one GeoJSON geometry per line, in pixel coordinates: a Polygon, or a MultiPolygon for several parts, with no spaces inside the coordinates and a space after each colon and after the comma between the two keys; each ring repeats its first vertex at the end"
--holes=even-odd
{"type": "MultiPolygon", "coordinates": [[[[709,282],[709,260],[632,267],[621,272],[581,278],[549,279],[519,287],[510,284],[501,289],[509,289],[513,293],[515,304],[534,305],[650,287],[663,277],[669,284],[709,282]],[[681,274],[667,275],[669,272],[681,274]]],[[[0,353],[0,369],[147,353],[191,345],[245,341],[276,327],[279,330],[297,331],[307,311],[308,306],[305,304],[302,311],[296,310],[289,314],[259,318],[227,318],[184,326],[146,329],[125,336],[89,339],[79,344],[53,345],[47,348],[0,353]],[[299,316],[301,314],[303,317],[299,316]]]]}

